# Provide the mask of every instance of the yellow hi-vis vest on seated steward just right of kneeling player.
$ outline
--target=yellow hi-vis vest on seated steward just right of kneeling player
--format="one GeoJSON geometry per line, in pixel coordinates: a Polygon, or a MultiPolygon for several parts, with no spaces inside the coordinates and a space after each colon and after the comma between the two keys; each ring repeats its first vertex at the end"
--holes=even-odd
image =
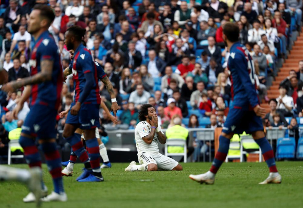
{"type": "MultiPolygon", "coordinates": [[[[165,132],[166,139],[184,139],[186,141],[188,137],[188,130],[180,125],[174,125],[168,128],[165,132]]],[[[183,153],[184,148],[180,146],[168,146],[168,153],[183,153]]]]}

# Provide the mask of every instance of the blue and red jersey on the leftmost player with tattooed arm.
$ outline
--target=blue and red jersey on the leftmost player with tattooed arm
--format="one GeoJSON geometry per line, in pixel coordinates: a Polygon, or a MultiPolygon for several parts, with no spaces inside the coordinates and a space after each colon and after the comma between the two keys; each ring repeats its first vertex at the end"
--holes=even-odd
{"type": "Polygon", "coordinates": [[[58,109],[61,102],[63,70],[58,47],[53,36],[48,31],[43,32],[32,47],[29,60],[31,76],[41,72],[41,62],[43,60],[52,60],[54,62],[52,80],[32,85],[30,105],[39,103],[58,109]]]}

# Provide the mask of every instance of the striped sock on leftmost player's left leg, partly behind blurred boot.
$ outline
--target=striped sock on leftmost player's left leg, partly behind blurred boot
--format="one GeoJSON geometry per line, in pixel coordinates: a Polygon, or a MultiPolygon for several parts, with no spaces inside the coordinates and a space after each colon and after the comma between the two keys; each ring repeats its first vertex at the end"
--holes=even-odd
{"type": "MultiPolygon", "coordinates": [[[[25,136],[20,136],[19,144],[24,150],[25,161],[30,168],[40,167],[41,168],[41,156],[38,152],[38,148],[35,145],[35,140],[33,138],[28,138],[25,136]]],[[[42,190],[46,190],[46,186],[42,181],[42,190]]]]}

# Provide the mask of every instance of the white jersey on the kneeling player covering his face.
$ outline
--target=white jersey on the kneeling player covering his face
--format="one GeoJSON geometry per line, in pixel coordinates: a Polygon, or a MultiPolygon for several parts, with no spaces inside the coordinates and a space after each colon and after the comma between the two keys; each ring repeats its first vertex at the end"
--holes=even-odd
{"type": "MultiPolygon", "coordinates": [[[[159,128],[161,129],[160,126],[159,126],[159,128]]],[[[146,121],[141,121],[136,126],[135,140],[136,140],[138,154],[140,154],[142,152],[149,152],[152,154],[159,153],[157,133],[155,133],[154,139],[150,145],[146,144],[145,141],[142,139],[142,137],[148,136],[148,134],[150,134],[150,132],[151,132],[151,125],[146,121]]],[[[161,129],[161,132],[162,132],[162,129],[161,129]]]]}

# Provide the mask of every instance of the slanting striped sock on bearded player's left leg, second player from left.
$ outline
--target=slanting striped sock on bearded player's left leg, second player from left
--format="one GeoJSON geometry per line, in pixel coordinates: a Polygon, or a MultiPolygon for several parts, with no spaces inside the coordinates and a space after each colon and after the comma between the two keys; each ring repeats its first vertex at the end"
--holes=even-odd
{"type": "Polygon", "coordinates": [[[66,141],[72,146],[72,150],[84,163],[86,169],[90,169],[91,165],[89,163],[88,154],[83,147],[83,143],[81,141],[81,135],[74,133],[72,136],[66,138],[66,141]]]}

